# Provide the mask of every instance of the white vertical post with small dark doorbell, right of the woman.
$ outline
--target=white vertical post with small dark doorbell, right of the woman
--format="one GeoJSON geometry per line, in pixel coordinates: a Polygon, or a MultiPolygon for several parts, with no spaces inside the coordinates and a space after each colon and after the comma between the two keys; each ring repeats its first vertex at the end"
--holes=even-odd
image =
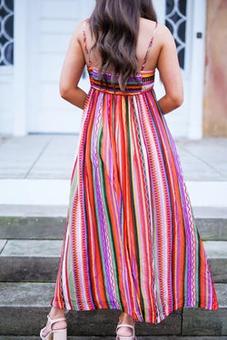
{"type": "Polygon", "coordinates": [[[192,24],[192,78],[188,138],[202,139],[203,88],[205,63],[206,0],[193,2],[192,24]],[[197,32],[202,38],[196,37],[197,32]]]}

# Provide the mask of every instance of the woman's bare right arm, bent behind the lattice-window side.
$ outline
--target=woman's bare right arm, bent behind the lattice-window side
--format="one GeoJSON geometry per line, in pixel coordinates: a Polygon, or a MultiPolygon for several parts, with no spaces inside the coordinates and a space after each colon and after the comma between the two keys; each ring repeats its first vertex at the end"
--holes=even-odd
{"type": "Polygon", "coordinates": [[[163,114],[172,112],[183,104],[183,80],[178,62],[176,45],[169,29],[162,25],[159,38],[162,47],[157,68],[165,89],[165,95],[158,101],[163,114]]]}

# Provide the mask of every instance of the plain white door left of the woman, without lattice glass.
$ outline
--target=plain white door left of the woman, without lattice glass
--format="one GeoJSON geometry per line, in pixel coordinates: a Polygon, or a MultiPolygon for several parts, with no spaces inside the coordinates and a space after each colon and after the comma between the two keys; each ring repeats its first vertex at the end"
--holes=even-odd
{"type": "MultiPolygon", "coordinates": [[[[89,17],[94,0],[30,0],[29,76],[27,79],[28,132],[78,132],[82,110],[64,101],[59,79],[70,38],[77,24],[89,17]]],[[[84,73],[85,74],[85,73],[84,73]]],[[[88,92],[89,79],[79,86],[88,92]]]]}

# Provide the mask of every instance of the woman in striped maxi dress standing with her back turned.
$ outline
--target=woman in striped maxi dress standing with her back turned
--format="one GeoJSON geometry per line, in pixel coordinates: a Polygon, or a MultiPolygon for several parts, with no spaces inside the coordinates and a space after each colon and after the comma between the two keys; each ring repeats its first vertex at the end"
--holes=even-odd
{"type": "Polygon", "coordinates": [[[84,110],[64,245],[42,339],[66,338],[65,310],[120,309],[160,323],[183,306],[217,309],[202,239],[164,114],[183,103],[173,36],[151,1],[96,0],[64,60],[61,96],[84,110]],[[91,89],[77,84],[87,65],[91,89]],[[153,91],[154,70],[165,95],[153,91]],[[58,337],[57,337],[58,336],[58,337]]]}

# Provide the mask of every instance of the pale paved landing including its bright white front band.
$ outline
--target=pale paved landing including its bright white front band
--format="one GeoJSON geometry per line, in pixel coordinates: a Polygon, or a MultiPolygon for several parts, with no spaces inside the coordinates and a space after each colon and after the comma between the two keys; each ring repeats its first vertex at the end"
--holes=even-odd
{"type": "MultiPolygon", "coordinates": [[[[67,206],[78,139],[0,136],[0,204],[67,206]]],[[[174,141],[192,205],[227,207],[227,138],[174,141]]]]}

